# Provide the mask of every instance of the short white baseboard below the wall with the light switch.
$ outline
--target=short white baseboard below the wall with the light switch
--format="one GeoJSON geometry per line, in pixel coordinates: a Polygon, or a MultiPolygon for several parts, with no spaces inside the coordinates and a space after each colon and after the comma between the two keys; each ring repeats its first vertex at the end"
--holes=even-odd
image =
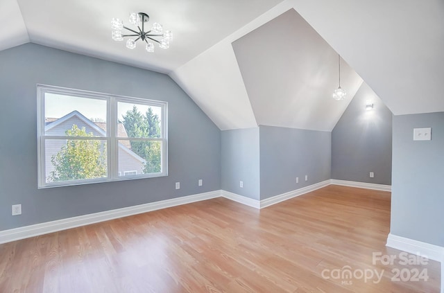
{"type": "Polygon", "coordinates": [[[427,256],[430,260],[443,262],[444,247],[438,245],[431,245],[426,242],[404,238],[393,234],[388,234],[386,246],[406,251],[409,254],[419,254],[420,256],[427,256]]]}

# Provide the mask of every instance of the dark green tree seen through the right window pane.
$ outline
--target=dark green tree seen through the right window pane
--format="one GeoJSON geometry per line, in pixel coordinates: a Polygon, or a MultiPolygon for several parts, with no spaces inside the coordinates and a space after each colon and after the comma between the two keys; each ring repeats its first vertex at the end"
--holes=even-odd
{"type": "MultiPolygon", "coordinates": [[[[129,138],[158,139],[161,136],[159,116],[153,114],[151,107],[143,115],[137,106],[133,105],[133,109],[123,116],[122,123],[129,138]]],[[[161,171],[162,150],[159,141],[130,141],[130,144],[131,150],[146,160],[143,168],[145,174],[161,171]]]]}

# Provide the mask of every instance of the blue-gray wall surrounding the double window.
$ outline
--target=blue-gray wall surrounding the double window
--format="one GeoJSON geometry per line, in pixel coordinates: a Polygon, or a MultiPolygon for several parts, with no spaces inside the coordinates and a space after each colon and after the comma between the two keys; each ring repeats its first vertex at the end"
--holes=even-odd
{"type": "Polygon", "coordinates": [[[221,189],[221,132],[169,76],[36,44],[0,64],[0,231],[221,189]],[[169,176],[37,189],[37,83],[167,101],[169,176]]]}

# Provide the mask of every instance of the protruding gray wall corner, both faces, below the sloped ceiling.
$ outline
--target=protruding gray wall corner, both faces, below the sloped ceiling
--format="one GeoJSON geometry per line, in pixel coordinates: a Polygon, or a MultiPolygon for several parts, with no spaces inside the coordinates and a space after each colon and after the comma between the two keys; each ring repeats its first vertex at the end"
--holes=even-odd
{"type": "Polygon", "coordinates": [[[264,125],[225,130],[221,152],[221,188],[251,199],[268,199],[331,177],[330,132],[264,125]]]}

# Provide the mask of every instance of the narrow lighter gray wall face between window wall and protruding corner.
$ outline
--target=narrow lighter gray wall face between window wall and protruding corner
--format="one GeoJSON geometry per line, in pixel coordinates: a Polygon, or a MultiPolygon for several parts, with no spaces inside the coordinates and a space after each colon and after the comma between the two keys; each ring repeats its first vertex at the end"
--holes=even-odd
{"type": "Polygon", "coordinates": [[[225,130],[221,137],[222,189],[259,200],[259,127],[225,130]]]}

